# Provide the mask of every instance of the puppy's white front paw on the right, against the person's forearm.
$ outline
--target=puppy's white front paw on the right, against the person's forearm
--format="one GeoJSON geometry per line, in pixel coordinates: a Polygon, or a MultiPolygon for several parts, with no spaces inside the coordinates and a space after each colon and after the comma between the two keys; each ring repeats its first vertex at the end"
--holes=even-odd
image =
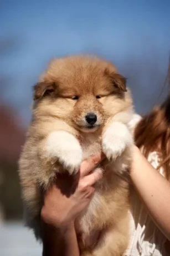
{"type": "Polygon", "coordinates": [[[117,156],[132,144],[132,135],[126,125],[121,122],[113,122],[102,138],[102,150],[109,160],[116,160],[117,156]]]}

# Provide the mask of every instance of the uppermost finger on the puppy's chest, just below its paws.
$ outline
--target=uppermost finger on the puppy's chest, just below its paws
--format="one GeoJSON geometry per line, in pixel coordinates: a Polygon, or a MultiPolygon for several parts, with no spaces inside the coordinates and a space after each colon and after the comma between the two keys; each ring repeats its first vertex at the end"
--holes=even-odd
{"type": "Polygon", "coordinates": [[[100,152],[95,156],[90,156],[88,159],[84,160],[80,166],[80,177],[83,177],[94,170],[96,166],[105,158],[105,155],[100,152]]]}

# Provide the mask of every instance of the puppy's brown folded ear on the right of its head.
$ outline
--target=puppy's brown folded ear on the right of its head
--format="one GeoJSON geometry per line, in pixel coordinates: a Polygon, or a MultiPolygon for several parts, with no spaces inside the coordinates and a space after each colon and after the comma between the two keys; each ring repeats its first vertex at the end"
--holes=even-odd
{"type": "Polygon", "coordinates": [[[120,91],[126,92],[126,78],[120,75],[119,73],[109,72],[105,70],[105,74],[110,77],[111,82],[114,87],[119,89],[120,91]]]}

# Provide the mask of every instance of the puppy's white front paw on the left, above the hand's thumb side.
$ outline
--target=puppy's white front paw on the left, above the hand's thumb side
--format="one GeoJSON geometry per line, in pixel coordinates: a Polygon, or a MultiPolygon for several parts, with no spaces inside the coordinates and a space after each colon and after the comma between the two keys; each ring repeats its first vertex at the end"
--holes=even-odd
{"type": "Polygon", "coordinates": [[[69,132],[52,132],[47,139],[47,152],[52,159],[56,157],[69,174],[78,172],[83,152],[79,141],[69,132]]]}

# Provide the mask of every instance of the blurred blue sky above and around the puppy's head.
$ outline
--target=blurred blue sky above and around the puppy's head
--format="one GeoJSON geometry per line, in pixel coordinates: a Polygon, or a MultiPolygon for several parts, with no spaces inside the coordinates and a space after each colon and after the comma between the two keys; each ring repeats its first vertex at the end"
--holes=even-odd
{"type": "Polygon", "coordinates": [[[150,109],[151,96],[161,91],[170,52],[170,1],[3,0],[0,22],[1,40],[17,43],[2,58],[1,75],[10,77],[3,97],[26,122],[32,86],[55,56],[97,53],[114,61],[130,83],[137,74],[132,89],[139,112],[150,109]],[[153,83],[143,71],[145,60],[159,70],[153,83]]]}

